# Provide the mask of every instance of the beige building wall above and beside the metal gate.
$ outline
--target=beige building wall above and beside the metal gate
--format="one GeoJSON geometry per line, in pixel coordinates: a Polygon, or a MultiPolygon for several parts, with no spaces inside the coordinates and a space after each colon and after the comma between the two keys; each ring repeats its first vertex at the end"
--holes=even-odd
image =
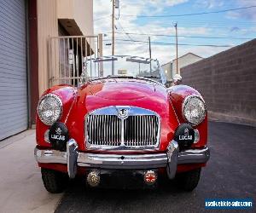
{"type": "MultiPolygon", "coordinates": [[[[68,24],[73,27],[70,28],[73,29],[69,32],[70,35],[93,35],[93,0],[37,1],[38,89],[39,95],[42,95],[44,90],[49,88],[49,37],[58,37],[58,22],[61,20],[67,20],[68,24]]],[[[63,25],[68,25],[67,22],[63,21],[63,25]]],[[[58,57],[55,58],[56,64],[58,64],[57,60],[58,57]]],[[[58,69],[58,66],[55,67],[58,69]]]]}

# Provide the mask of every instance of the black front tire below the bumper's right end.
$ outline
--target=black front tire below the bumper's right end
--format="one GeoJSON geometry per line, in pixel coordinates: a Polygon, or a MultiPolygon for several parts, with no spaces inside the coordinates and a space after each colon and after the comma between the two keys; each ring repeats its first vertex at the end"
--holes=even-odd
{"type": "Polygon", "coordinates": [[[197,187],[201,176],[201,168],[177,174],[176,180],[179,187],[191,192],[197,187]]]}

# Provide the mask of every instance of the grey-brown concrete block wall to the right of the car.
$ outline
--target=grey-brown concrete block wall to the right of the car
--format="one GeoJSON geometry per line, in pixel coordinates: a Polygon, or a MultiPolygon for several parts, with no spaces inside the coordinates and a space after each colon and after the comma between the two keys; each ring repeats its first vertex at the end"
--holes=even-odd
{"type": "Polygon", "coordinates": [[[201,92],[210,117],[256,125],[256,39],[185,66],[181,75],[201,92]]]}

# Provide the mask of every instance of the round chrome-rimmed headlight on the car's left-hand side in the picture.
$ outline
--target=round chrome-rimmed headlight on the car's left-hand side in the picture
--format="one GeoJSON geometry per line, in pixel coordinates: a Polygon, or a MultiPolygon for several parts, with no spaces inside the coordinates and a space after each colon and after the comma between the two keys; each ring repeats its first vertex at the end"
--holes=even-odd
{"type": "Polygon", "coordinates": [[[38,116],[46,125],[54,124],[62,115],[62,101],[54,94],[44,95],[38,103],[38,116]]]}

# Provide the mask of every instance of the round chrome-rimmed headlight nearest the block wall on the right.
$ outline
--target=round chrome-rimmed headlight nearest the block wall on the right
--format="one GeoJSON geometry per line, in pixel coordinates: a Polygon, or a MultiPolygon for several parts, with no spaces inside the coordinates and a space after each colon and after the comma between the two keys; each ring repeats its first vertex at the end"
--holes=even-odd
{"type": "Polygon", "coordinates": [[[189,95],[183,101],[183,118],[192,125],[200,124],[207,114],[205,101],[199,95],[189,95]]]}

